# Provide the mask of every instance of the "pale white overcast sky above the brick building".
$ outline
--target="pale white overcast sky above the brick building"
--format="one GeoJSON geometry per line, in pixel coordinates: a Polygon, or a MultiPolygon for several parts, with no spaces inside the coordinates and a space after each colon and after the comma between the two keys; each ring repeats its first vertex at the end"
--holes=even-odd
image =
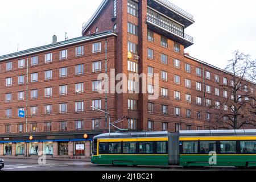
{"type": "MultiPolygon", "coordinates": [[[[86,22],[102,0],[3,1],[0,6],[0,55],[81,36],[86,22]],[[88,3],[89,2],[89,3],[88,3]]],[[[236,49],[256,59],[255,0],[171,0],[194,16],[185,33],[195,44],[185,52],[224,68],[236,49]]]]}

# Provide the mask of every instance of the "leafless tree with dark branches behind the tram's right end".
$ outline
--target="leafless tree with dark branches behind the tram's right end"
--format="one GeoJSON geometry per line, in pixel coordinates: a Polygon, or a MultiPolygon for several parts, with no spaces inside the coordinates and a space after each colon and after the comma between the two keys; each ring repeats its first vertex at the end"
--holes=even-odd
{"type": "Polygon", "coordinates": [[[236,51],[234,58],[229,60],[225,72],[222,75],[224,80],[219,81],[220,90],[224,92],[224,99],[220,104],[224,109],[218,111],[210,127],[212,129],[255,127],[256,60],[251,60],[250,55],[236,51]]]}

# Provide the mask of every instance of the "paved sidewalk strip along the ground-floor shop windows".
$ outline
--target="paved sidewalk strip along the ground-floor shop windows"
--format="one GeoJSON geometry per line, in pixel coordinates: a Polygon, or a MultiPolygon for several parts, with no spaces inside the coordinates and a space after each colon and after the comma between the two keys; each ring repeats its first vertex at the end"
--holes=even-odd
{"type": "MultiPolygon", "coordinates": [[[[36,159],[38,160],[40,156],[0,156],[1,159],[36,159]]],[[[78,157],[79,158],[79,157],[78,157]]],[[[51,156],[46,156],[47,160],[64,160],[64,161],[83,161],[90,162],[90,158],[85,159],[69,159],[69,158],[52,158],[51,156]]]]}

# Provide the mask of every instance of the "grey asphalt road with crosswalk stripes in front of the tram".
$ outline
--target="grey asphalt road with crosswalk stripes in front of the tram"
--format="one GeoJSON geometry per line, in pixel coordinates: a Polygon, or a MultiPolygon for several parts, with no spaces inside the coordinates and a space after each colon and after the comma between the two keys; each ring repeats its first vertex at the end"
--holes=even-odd
{"type": "MultiPolygon", "coordinates": [[[[90,162],[67,161],[67,160],[46,160],[46,164],[38,164],[36,159],[9,159],[5,160],[5,168],[2,171],[219,171],[219,170],[241,170],[234,167],[226,168],[183,168],[172,167],[127,167],[127,166],[104,166],[90,162]]],[[[254,169],[251,169],[255,171],[254,169]]]]}

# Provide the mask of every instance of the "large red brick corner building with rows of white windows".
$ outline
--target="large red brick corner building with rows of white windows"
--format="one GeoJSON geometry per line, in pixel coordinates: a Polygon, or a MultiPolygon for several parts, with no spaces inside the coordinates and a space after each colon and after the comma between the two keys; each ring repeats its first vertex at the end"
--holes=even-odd
{"type": "MultiPolygon", "coordinates": [[[[109,125],[108,115],[90,106],[112,122],[128,117],[118,123],[122,129],[208,129],[224,109],[208,105],[229,96],[219,83],[231,77],[185,54],[193,44],[185,28],[193,23],[166,0],[104,0],[82,37],[53,37],[50,45],[0,56],[0,155],[89,156],[90,140],[109,125]],[[110,78],[110,69],[114,76],[159,73],[159,98],[148,100],[154,83],[147,83],[148,93],[98,93],[98,74],[110,78]]],[[[142,90],[141,82],[127,82],[128,90],[142,90]]]]}

